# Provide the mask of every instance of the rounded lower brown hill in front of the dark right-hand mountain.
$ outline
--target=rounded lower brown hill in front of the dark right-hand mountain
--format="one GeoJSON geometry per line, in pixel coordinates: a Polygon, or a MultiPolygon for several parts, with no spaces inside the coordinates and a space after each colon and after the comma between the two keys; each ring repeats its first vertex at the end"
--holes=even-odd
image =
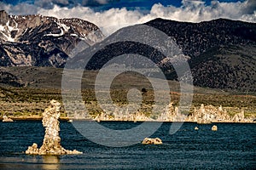
{"type": "Polygon", "coordinates": [[[256,46],[218,46],[189,63],[195,85],[256,92],[256,46]]]}

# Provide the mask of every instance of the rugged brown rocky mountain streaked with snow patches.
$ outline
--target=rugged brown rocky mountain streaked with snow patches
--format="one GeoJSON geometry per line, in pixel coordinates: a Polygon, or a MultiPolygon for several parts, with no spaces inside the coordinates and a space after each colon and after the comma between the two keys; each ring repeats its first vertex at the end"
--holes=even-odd
{"type": "Polygon", "coordinates": [[[63,67],[81,40],[90,46],[102,37],[102,31],[85,20],[0,11],[0,65],[63,67]]]}

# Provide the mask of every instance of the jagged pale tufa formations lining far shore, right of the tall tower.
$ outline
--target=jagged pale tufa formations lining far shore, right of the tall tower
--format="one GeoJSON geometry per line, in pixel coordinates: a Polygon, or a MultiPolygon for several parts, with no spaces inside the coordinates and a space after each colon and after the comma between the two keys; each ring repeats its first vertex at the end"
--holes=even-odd
{"type": "MultiPolygon", "coordinates": [[[[83,119],[83,117],[81,117],[83,119]]],[[[177,106],[173,103],[166,105],[164,111],[159,116],[146,116],[142,111],[129,113],[129,111],[115,110],[109,113],[101,113],[94,118],[95,121],[131,121],[131,122],[197,122],[199,124],[209,124],[212,122],[253,122],[253,117],[244,116],[244,111],[230,116],[222,106],[215,107],[213,105],[201,105],[189,115],[183,115],[177,106]]],[[[195,129],[196,130],[196,129],[195,129]]]]}

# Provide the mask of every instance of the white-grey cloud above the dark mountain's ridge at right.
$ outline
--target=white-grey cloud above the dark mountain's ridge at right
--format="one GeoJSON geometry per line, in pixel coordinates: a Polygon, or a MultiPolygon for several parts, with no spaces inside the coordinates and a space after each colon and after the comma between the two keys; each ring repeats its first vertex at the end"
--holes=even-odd
{"type": "Polygon", "coordinates": [[[247,14],[244,10],[247,2],[241,3],[219,3],[212,1],[211,5],[206,6],[201,1],[183,1],[181,8],[164,7],[161,4],[154,4],[150,15],[168,19],[199,22],[202,20],[213,20],[218,18],[227,18],[232,20],[256,21],[254,14],[247,14]]]}

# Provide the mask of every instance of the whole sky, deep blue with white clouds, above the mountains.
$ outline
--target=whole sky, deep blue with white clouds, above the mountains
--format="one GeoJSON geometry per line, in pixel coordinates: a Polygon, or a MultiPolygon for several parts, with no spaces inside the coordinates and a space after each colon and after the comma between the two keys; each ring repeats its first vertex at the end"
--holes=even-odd
{"type": "Polygon", "coordinates": [[[0,0],[9,14],[80,18],[108,36],[124,26],[155,18],[200,22],[226,18],[256,22],[255,0],[0,0]]]}

